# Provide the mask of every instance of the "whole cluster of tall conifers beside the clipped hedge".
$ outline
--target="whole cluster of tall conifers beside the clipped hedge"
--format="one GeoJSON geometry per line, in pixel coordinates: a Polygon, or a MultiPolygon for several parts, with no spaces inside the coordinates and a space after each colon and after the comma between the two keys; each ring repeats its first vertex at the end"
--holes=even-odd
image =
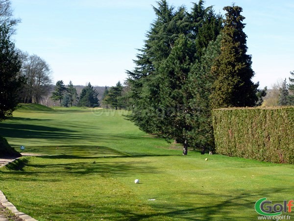
{"type": "Polygon", "coordinates": [[[242,8],[224,7],[222,17],[203,0],[190,10],[160,0],[153,9],[156,19],[127,71],[130,120],[183,144],[183,154],[213,150],[212,109],[256,106],[265,95],[251,80],[242,8]]]}

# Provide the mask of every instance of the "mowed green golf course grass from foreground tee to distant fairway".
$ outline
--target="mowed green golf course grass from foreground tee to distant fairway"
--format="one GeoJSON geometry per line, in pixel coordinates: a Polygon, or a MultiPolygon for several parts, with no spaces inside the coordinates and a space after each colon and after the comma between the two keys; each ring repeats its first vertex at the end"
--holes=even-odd
{"type": "Polygon", "coordinates": [[[39,221],[257,220],[258,199],[294,199],[293,165],[182,156],[125,114],[24,105],[0,123],[0,134],[40,156],[1,168],[0,190],[39,221]]]}

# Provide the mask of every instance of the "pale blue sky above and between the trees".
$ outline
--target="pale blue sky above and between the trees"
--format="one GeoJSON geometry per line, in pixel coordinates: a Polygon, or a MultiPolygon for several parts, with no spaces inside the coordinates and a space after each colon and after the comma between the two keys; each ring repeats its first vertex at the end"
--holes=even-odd
{"type": "MultiPolygon", "coordinates": [[[[175,8],[193,0],[169,0],[175,8]]],[[[198,2],[198,0],[194,1],[198,2]]],[[[206,0],[216,13],[233,0],[206,0]]],[[[260,88],[271,88],[294,71],[294,1],[234,0],[243,8],[248,54],[260,88]]],[[[53,83],[114,86],[133,70],[155,20],[155,0],[11,0],[22,22],[13,36],[17,48],[43,58],[53,83]]]]}

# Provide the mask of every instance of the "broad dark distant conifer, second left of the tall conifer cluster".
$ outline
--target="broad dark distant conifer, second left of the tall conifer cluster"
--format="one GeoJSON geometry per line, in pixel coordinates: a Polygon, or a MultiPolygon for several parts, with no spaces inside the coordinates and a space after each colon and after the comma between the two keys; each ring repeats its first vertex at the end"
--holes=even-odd
{"type": "Polygon", "coordinates": [[[89,83],[86,87],[83,88],[80,94],[78,106],[80,107],[99,106],[99,100],[97,96],[98,96],[98,92],[93,88],[91,83],[89,83]]]}

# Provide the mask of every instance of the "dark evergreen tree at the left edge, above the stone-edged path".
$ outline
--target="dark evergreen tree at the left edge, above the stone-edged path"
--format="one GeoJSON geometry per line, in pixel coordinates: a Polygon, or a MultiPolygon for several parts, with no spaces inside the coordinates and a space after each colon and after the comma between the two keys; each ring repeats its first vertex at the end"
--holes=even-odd
{"type": "Polygon", "coordinates": [[[9,28],[0,25],[0,121],[12,116],[19,103],[19,94],[25,82],[19,74],[21,62],[10,41],[9,28]]]}

